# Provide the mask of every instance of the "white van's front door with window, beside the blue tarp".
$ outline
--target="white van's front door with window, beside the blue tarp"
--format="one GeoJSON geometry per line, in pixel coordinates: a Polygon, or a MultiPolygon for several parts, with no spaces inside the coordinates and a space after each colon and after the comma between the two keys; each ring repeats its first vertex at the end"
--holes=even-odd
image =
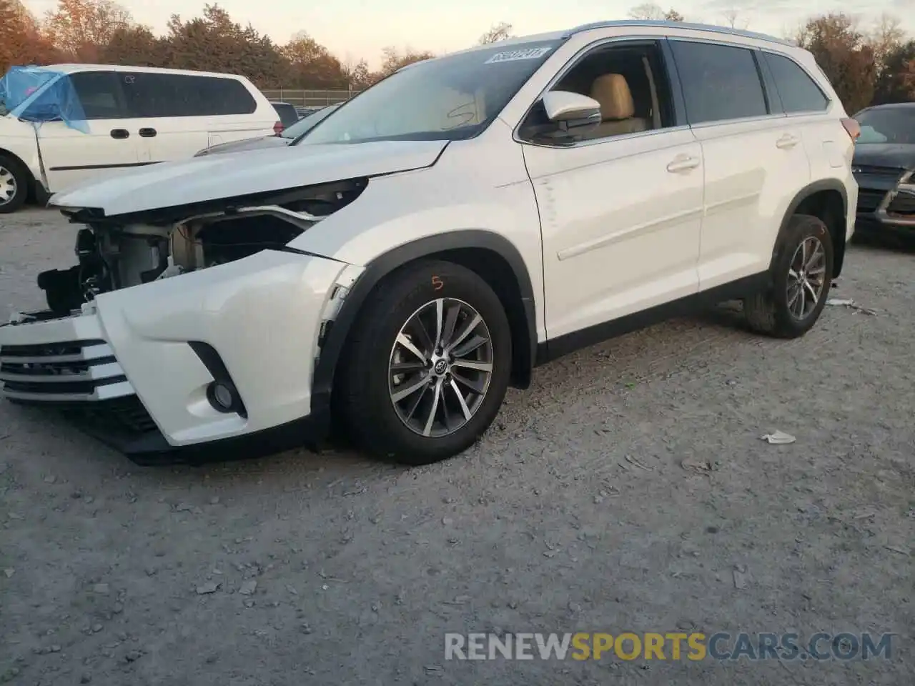
{"type": "Polygon", "coordinates": [[[86,115],[89,133],[63,122],[38,128],[49,190],[59,193],[84,181],[112,177],[140,164],[140,139],[126,118],[124,94],[113,71],[79,71],[68,77],[86,115]]]}

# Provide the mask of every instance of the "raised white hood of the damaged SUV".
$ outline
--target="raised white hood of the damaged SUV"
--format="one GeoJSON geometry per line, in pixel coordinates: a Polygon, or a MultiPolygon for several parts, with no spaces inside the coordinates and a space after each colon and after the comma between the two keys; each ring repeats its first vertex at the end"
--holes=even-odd
{"type": "Polygon", "coordinates": [[[119,177],[70,188],[50,200],[61,208],[129,212],[188,205],[346,178],[421,169],[435,163],[447,141],[381,141],[289,145],[232,155],[204,155],[140,166],[119,177]]]}

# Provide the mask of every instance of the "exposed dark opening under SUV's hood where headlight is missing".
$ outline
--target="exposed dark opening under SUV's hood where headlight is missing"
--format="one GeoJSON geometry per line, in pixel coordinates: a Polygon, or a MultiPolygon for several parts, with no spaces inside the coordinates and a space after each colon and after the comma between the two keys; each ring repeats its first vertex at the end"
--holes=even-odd
{"type": "Polygon", "coordinates": [[[288,243],[358,198],[356,178],[153,209],[106,218],[96,209],[61,209],[77,234],[78,263],[38,275],[49,311],[67,316],[97,295],[230,263],[263,250],[296,251],[288,243]]]}

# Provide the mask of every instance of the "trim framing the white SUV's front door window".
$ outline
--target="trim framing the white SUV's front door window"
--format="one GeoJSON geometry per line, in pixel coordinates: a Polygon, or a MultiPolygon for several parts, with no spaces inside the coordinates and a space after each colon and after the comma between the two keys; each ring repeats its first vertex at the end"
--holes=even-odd
{"type": "MultiPolygon", "coordinates": [[[[524,115],[522,116],[521,120],[515,125],[514,130],[511,132],[511,140],[513,140],[515,143],[518,143],[521,145],[533,145],[535,147],[545,147],[545,148],[549,148],[551,150],[558,150],[558,149],[565,149],[565,148],[575,149],[578,147],[585,147],[585,146],[589,146],[589,145],[600,145],[600,144],[608,143],[611,141],[631,140],[633,138],[641,138],[641,137],[645,137],[645,136],[649,136],[649,135],[669,134],[673,131],[688,130],[689,124],[680,123],[681,115],[682,115],[682,113],[680,111],[680,107],[682,105],[680,102],[678,102],[678,98],[683,97],[683,92],[680,89],[680,80],[677,75],[675,65],[673,65],[673,63],[671,62],[672,56],[670,56],[668,50],[666,49],[667,46],[664,43],[664,41],[667,38],[668,37],[663,34],[657,34],[657,35],[646,34],[644,36],[613,36],[613,37],[609,37],[609,38],[598,38],[597,40],[594,40],[594,41],[588,43],[583,48],[580,48],[576,52],[575,55],[573,55],[571,58],[569,58],[565,61],[565,64],[562,66],[562,68],[560,68],[559,70],[556,71],[556,73],[553,75],[553,77],[544,86],[544,89],[542,91],[540,91],[539,93],[537,93],[537,96],[533,99],[533,102],[531,102],[531,104],[528,105],[527,109],[524,111],[524,115]],[[548,93],[556,85],[556,83],[558,83],[560,80],[562,80],[569,71],[575,69],[576,66],[578,65],[578,63],[582,59],[585,59],[589,54],[591,54],[592,52],[594,52],[597,49],[605,48],[608,46],[615,47],[615,46],[613,46],[613,44],[615,44],[615,43],[626,43],[629,45],[651,45],[651,46],[655,46],[656,48],[658,48],[658,51],[661,55],[663,67],[667,71],[669,94],[670,94],[671,100],[673,102],[674,117],[676,119],[675,125],[668,126],[666,128],[661,128],[661,129],[650,129],[649,131],[639,131],[634,134],[619,134],[619,135],[614,135],[614,136],[608,136],[606,138],[595,138],[595,139],[587,140],[587,141],[575,141],[573,143],[568,143],[568,144],[551,144],[551,143],[544,143],[544,142],[534,142],[534,141],[527,140],[526,138],[523,138],[521,135],[522,126],[524,125],[524,122],[527,121],[527,118],[531,115],[533,108],[537,106],[537,103],[540,102],[541,100],[543,100],[544,95],[546,93],[548,93]]],[[[533,79],[533,74],[532,74],[531,78],[533,79]]]]}

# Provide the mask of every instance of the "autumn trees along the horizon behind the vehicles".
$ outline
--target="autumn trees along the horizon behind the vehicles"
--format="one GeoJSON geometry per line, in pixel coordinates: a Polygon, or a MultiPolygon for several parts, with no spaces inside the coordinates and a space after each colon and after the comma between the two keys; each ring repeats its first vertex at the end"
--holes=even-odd
{"type": "MultiPolygon", "coordinates": [[[[673,8],[643,4],[631,18],[684,21],[673,8]]],[[[737,11],[716,23],[748,28],[737,11]]],[[[479,37],[480,44],[511,36],[501,22],[479,37]]],[[[915,39],[898,19],[881,16],[871,27],[841,12],[813,16],[790,37],[809,49],[832,81],[845,109],[855,113],[871,103],[915,100],[915,39]]],[[[171,16],[165,35],[137,24],[114,0],[59,0],[44,16],[32,15],[21,0],[0,0],[0,70],[28,64],[81,62],[128,64],[243,74],[262,89],[361,90],[406,64],[434,57],[413,48],[384,48],[381,68],[341,61],[306,31],[279,45],[242,25],[220,5],[204,5],[200,16],[171,16]]]]}

